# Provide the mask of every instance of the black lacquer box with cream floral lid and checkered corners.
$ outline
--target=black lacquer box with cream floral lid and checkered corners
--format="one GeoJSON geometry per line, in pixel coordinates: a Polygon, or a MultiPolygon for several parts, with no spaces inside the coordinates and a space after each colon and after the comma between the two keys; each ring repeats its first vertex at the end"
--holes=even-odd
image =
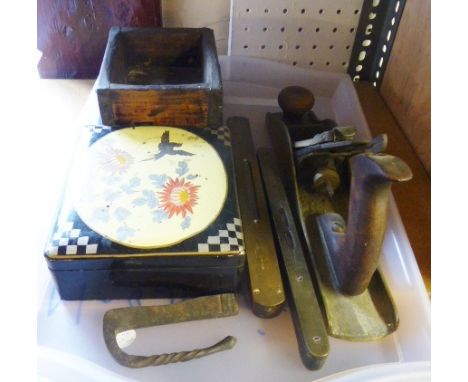
{"type": "Polygon", "coordinates": [[[65,300],[236,291],[245,264],[226,127],[92,126],[45,257],[65,300]]]}

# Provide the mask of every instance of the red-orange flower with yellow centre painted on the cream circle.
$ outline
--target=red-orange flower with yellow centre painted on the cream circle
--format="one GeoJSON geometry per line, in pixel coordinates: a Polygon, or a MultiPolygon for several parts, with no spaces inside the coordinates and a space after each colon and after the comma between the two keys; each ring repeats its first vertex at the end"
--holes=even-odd
{"type": "Polygon", "coordinates": [[[187,212],[193,214],[192,207],[197,204],[197,192],[200,186],[185,181],[185,179],[169,178],[160,194],[160,201],[168,218],[181,214],[184,218],[187,212]]]}

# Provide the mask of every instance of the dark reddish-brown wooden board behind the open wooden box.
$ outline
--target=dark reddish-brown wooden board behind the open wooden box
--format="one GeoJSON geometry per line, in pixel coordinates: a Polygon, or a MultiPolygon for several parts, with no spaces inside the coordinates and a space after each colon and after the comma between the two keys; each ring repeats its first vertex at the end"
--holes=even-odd
{"type": "Polygon", "coordinates": [[[161,26],[159,0],[38,0],[41,78],[96,78],[111,26],[161,26]]]}

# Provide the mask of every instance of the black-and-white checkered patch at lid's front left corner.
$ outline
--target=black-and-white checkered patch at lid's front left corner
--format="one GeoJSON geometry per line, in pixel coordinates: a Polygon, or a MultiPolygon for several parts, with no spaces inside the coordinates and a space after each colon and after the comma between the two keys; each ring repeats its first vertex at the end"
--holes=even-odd
{"type": "Polygon", "coordinates": [[[74,228],[72,221],[67,221],[55,231],[46,253],[54,255],[90,255],[96,254],[98,244],[89,236],[81,236],[81,229],[74,228]]]}

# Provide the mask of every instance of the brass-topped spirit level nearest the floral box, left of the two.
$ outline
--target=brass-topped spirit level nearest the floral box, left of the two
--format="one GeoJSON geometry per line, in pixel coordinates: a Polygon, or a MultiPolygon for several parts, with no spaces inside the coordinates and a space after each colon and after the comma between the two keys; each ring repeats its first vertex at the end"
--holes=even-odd
{"type": "Polygon", "coordinates": [[[279,314],[285,295],[249,121],[232,117],[227,124],[231,131],[252,310],[259,317],[274,317],[279,314]]]}

